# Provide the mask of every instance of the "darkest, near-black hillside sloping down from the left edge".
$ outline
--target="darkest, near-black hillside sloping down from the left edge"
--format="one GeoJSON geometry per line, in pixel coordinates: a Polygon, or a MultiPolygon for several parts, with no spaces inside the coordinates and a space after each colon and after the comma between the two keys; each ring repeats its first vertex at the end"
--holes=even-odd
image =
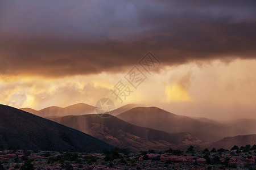
{"type": "Polygon", "coordinates": [[[81,131],[22,110],[0,105],[0,145],[23,150],[100,152],[113,146],[81,131]]]}

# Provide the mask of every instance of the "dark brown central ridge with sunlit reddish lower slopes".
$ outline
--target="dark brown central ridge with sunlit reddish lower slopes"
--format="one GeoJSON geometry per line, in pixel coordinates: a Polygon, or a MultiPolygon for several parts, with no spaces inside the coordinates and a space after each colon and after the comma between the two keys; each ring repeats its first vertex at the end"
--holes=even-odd
{"type": "Polygon", "coordinates": [[[188,133],[169,134],[160,130],[135,126],[114,116],[107,116],[109,117],[86,114],[51,118],[51,120],[88,133],[113,146],[130,148],[132,151],[166,150],[176,145],[184,145],[187,148],[188,145],[201,142],[188,133]]]}

